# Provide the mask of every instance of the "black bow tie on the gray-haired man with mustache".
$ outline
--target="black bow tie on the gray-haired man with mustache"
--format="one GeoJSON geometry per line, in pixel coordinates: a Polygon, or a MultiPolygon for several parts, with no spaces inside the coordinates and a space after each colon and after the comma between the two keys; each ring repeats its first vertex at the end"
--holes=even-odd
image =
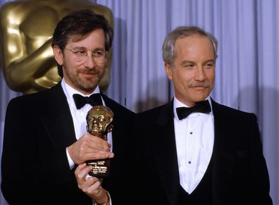
{"type": "Polygon", "coordinates": [[[191,113],[210,113],[211,107],[209,101],[199,101],[193,107],[180,107],[176,108],[176,113],[178,113],[178,118],[182,120],[183,118],[187,118],[191,113]]]}

